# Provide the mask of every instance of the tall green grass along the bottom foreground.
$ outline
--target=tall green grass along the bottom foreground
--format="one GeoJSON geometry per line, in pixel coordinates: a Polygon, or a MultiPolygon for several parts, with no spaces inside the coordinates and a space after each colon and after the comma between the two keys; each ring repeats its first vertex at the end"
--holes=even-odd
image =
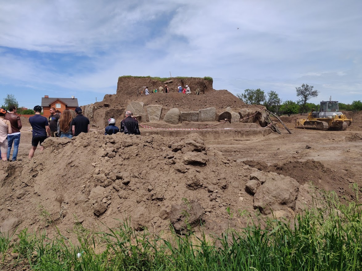
{"type": "MultiPolygon", "coordinates": [[[[341,205],[334,194],[327,202],[292,224],[268,220],[266,227],[254,223],[212,241],[192,233],[139,233],[129,221],[107,233],[83,231],[77,246],[60,234],[50,240],[23,231],[9,248],[18,259],[3,266],[17,270],[17,261],[25,260],[31,270],[362,270],[361,206],[341,205]]],[[[5,253],[8,242],[0,237],[5,253]]]]}

